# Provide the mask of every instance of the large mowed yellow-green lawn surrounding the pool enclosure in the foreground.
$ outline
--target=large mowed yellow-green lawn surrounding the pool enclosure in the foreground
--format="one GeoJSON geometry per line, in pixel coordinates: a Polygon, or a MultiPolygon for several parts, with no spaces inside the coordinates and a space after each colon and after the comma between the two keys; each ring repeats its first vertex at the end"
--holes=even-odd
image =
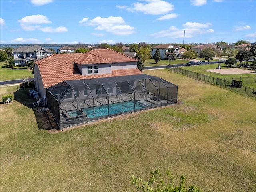
{"type": "Polygon", "coordinates": [[[132,175],[156,168],[205,192],[256,191],[255,100],[165,69],[144,73],[178,85],[182,104],[58,133],[38,130],[28,90],[1,87],[16,100],[0,105],[0,191],[127,192],[132,175]]]}

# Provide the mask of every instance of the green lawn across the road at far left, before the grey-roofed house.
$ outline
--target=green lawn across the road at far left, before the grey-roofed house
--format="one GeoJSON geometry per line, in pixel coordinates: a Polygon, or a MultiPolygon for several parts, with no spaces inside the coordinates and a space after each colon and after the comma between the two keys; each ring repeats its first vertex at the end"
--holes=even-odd
{"type": "Polygon", "coordinates": [[[0,81],[22,79],[24,77],[31,77],[32,71],[27,69],[8,69],[6,63],[0,62],[0,81]]]}

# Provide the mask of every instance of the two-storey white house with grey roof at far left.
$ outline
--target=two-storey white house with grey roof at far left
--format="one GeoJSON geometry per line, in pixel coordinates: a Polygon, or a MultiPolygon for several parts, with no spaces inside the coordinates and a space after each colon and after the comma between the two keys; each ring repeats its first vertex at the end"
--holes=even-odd
{"type": "Polygon", "coordinates": [[[23,46],[12,50],[15,66],[25,66],[29,61],[36,61],[39,58],[52,55],[52,51],[38,45],[23,46]]]}

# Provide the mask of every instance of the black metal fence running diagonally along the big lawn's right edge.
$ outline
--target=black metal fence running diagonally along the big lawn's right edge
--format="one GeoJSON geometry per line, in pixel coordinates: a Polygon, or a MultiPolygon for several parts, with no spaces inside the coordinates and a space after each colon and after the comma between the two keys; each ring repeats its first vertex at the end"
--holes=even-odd
{"type": "MultiPolygon", "coordinates": [[[[173,67],[171,65],[167,65],[167,69],[184,74],[186,76],[190,76],[190,77],[194,77],[194,78],[203,80],[203,81],[211,83],[211,84],[216,84],[218,86],[222,86],[222,87],[228,88],[230,90],[234,90],[236,92],[246,94],[248,96],[256,97],[256,89],[250,88],[248,86],[238,87],[237,84],[232,83],[231,80],[233,78],[224,78],[224,79],[216,78],[216,77],[212,77],[209,75],[182,69],[179,67],[173,67]]],[[[239,78],[235,78],[235,79],[239,79],[239,78]]],[[[252,77],[252,78],[250,78],[250,77],[242,78],[241,77],[240,79],[247,83],[256,83],[256,78],[254,78],[254,77],[252,77]]]]}

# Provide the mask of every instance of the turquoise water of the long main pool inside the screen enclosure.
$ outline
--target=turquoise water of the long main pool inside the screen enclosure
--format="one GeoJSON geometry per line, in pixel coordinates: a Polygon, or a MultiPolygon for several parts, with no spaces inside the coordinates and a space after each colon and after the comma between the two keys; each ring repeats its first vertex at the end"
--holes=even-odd
{"type": "MultiPolygon", "coordinates": [[[[135,109],[145,108],[146,105],[135,100],[135,109]]],[[[134,110],[134,100],[109,104],[109,114],[116,114],[134,110]],[[123,104],[123,105],[122,105],[123,104]]],[[[93,118],[93,107],[83,108],[82,111],[87,114],[88,118],[93,118]]],[[[108,116],[108,105],[94,107],[94,116],[108,116]]]]}

